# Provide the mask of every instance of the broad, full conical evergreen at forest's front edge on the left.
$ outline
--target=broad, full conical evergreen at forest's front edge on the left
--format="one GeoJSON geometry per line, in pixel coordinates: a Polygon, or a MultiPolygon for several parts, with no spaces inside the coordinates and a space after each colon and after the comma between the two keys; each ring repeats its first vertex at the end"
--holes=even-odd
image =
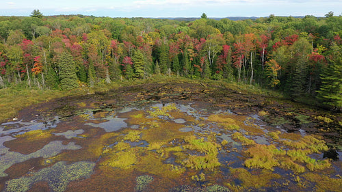
{"type": "Polygon", "coordinates": [[[60,79],[62,90],[72,90],[77,88],[77,75],[75,72],[75,62],[73,56],[64,52],[60,58],[60,79]]]}

